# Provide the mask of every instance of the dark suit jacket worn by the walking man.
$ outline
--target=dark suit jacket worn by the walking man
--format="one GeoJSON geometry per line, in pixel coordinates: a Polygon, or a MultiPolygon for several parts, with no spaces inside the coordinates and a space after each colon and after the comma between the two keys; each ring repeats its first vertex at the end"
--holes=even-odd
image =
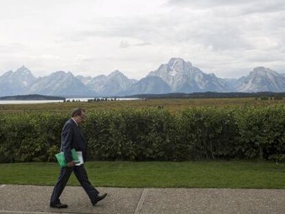
{"type": "Polygon", "coordinates": [[[61,132],[61,151],[64,152],[66,162],[72,161],[71,149],[82,151],[83,161],[87,160],[87,143],[83,136],[81,127],[76,125],[76,122],[70,118],[65,122],[61,132]]]}

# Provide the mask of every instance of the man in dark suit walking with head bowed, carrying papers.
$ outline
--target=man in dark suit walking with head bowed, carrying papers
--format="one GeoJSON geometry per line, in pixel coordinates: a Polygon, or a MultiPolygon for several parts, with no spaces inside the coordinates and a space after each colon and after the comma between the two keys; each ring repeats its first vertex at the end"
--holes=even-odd
{"type": "Polygon", "coordinates": [[[81,186],[89,196],[89,199],[94,206],[98,201],[103,200],[107,193],[103,195],[98,195],[98,191],[89,182],[84,164],[75,165],[72,159],[71,149],[76,151],[82,151],[83,162],[86,161],[87,155],[87,145],[86,140],[81,131],[79,125],[83,122],[85,118],[85,110],[82,108],[76,108],[72,111],[72,118],[65,122],[63,126],[63,131],[61,133],[61,151],[63,151],[65,160],[67,162],[67,167],[61,168],[61,173],[54,186],[54,191],[52,191],[52,196],[50,198],[50,206],[53,208],[67,208],[67,204],[61,204],[59,197],[67,184],[68,179],[72,171],[76,175],[76,178],[80,182],[81,186]]]}

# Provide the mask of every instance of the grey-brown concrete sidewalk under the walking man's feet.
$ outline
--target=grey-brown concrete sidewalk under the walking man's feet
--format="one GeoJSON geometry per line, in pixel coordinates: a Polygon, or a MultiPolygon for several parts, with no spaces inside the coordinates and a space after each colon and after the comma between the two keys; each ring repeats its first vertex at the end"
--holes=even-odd
{"type": "Polygon", "coordinates": [[[98,188],[105,200],[92,206],[81,186],[66,186],[50,208],[53,186],[0,184],[2,213],[285,213],[285,189],[98,188]]]}

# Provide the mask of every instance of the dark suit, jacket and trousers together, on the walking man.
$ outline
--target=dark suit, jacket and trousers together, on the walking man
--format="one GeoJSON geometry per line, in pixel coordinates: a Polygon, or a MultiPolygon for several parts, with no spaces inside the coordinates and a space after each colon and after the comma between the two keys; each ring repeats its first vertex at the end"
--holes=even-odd
{"type": "MultiPolygon", "coordinates": [[[[85,162],[87,159],[86,140],[81,128],[76,125],[74,120],[70,119],[65,122],[61,133],[61,151],[64,152],[66,162],[72,161],[71,149],[73,148],[76,151],[82,151],[83,162],[85,162]]],[[[83,186],[83,189],[89,196],[90,201],[94,202],[99,192],[94,188],[94,186],[92,186],[92,184],[90,184],[84,164],[81,164],[80,166],[61,168],[59,178],[54,186],[54,191],[50,198],[50,204],[58,204],[60,202],[59,197],[61,196],[72,171],[74,171],[76,178],[80,182],[81,186],[83,186]]]]}

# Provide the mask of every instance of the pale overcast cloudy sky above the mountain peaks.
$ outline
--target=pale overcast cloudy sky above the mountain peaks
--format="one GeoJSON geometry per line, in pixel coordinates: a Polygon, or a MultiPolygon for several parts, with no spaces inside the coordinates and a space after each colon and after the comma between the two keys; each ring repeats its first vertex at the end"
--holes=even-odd
{"type": "Polygon", "coordinates": [[[181,57],[206,73],[285,73],[284,0],[9,0],[0,3],[0,75],[21,65],[130,78],[181,57]]]}

